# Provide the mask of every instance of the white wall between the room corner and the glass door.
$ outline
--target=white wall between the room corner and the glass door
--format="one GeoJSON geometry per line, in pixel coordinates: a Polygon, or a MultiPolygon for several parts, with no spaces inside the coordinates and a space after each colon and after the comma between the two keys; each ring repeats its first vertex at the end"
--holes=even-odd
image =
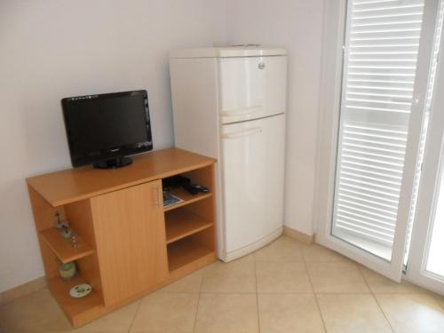
{"type": "Polygon", "coordinates": [[[227,0],[227,40],[289,51],[285,224],[313,234],[323,0],[227,0]]]}

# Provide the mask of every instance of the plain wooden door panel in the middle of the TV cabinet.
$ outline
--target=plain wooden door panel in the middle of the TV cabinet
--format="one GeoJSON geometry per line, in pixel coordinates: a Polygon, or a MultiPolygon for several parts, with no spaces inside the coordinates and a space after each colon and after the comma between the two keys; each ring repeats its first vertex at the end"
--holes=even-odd
{"type": "Polygon", "coordinates": [[[160,180],[91,199],[106,305],[168,276],[160,180]]]}

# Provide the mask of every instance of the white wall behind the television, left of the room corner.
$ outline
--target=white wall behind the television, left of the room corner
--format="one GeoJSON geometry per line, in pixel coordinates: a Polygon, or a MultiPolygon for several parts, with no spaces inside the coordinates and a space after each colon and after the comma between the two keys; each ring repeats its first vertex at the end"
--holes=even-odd
{"type": "Polygon", "coordinates": [[[218,0],[0,2],[0,292],[44,274],[25,178],[70,167],[59,100],[147,89],[173,143],[168,51],[225,41],[218,0]]]}

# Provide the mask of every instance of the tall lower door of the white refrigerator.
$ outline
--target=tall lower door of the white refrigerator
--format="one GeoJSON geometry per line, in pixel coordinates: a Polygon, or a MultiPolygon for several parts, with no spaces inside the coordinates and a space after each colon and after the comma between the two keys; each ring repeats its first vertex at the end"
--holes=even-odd
{"type": "Polygon", "coordinates": [[[222,125],[226,261],[281,234],[285,115],[222,125]]]}

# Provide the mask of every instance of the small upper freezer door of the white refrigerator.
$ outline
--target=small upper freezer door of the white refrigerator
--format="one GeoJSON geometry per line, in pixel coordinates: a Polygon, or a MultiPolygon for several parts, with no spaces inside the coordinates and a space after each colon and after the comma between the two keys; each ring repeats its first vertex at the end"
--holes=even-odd
{"type": "Polygon", "coordinates": [[[218,66],[221,123],[285,112],[286,56],[221,58],[218,66]]]}

